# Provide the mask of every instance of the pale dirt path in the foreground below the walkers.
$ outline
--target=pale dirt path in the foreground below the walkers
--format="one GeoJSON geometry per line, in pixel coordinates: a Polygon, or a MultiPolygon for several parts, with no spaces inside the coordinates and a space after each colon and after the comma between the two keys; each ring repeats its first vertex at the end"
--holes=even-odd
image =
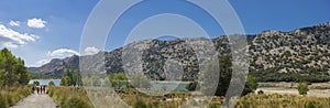
{"type": "Polygon", "coordinates": [[[22,99],[16,106],[12,108],[57,108],[54,100],[46,94],[43,95],[30,95],[22,99]]]}

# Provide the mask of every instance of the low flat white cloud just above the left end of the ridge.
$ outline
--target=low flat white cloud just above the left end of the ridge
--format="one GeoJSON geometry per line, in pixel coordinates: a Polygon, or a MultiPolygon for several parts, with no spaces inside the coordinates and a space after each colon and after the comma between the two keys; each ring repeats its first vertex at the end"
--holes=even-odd
{"type": "Polygon", "coordinates": [[[74,50],[68,50],[68,48],[59,48],[59,50],[47,53],[47,56],[58,57],[58,58],[68,57],[72,55],[79,55],[79,53],[74,50]]]}

